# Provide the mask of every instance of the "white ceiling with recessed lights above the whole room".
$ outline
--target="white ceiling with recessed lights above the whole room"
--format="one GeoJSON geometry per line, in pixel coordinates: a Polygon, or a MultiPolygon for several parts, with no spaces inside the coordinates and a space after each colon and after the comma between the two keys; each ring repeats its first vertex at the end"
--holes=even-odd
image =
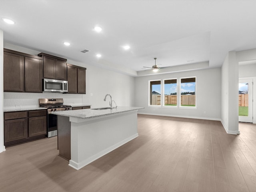
{"type": "Polygon", "coordinates": [[[1,19],[0,29],[4,42],[136,76],[152,74],[143,66],[155,57],[173,72],[220,67],[228,51],[256,48],[255,8],[254,0],[0,0],[0,17],[16,22],[1,19]]]}

